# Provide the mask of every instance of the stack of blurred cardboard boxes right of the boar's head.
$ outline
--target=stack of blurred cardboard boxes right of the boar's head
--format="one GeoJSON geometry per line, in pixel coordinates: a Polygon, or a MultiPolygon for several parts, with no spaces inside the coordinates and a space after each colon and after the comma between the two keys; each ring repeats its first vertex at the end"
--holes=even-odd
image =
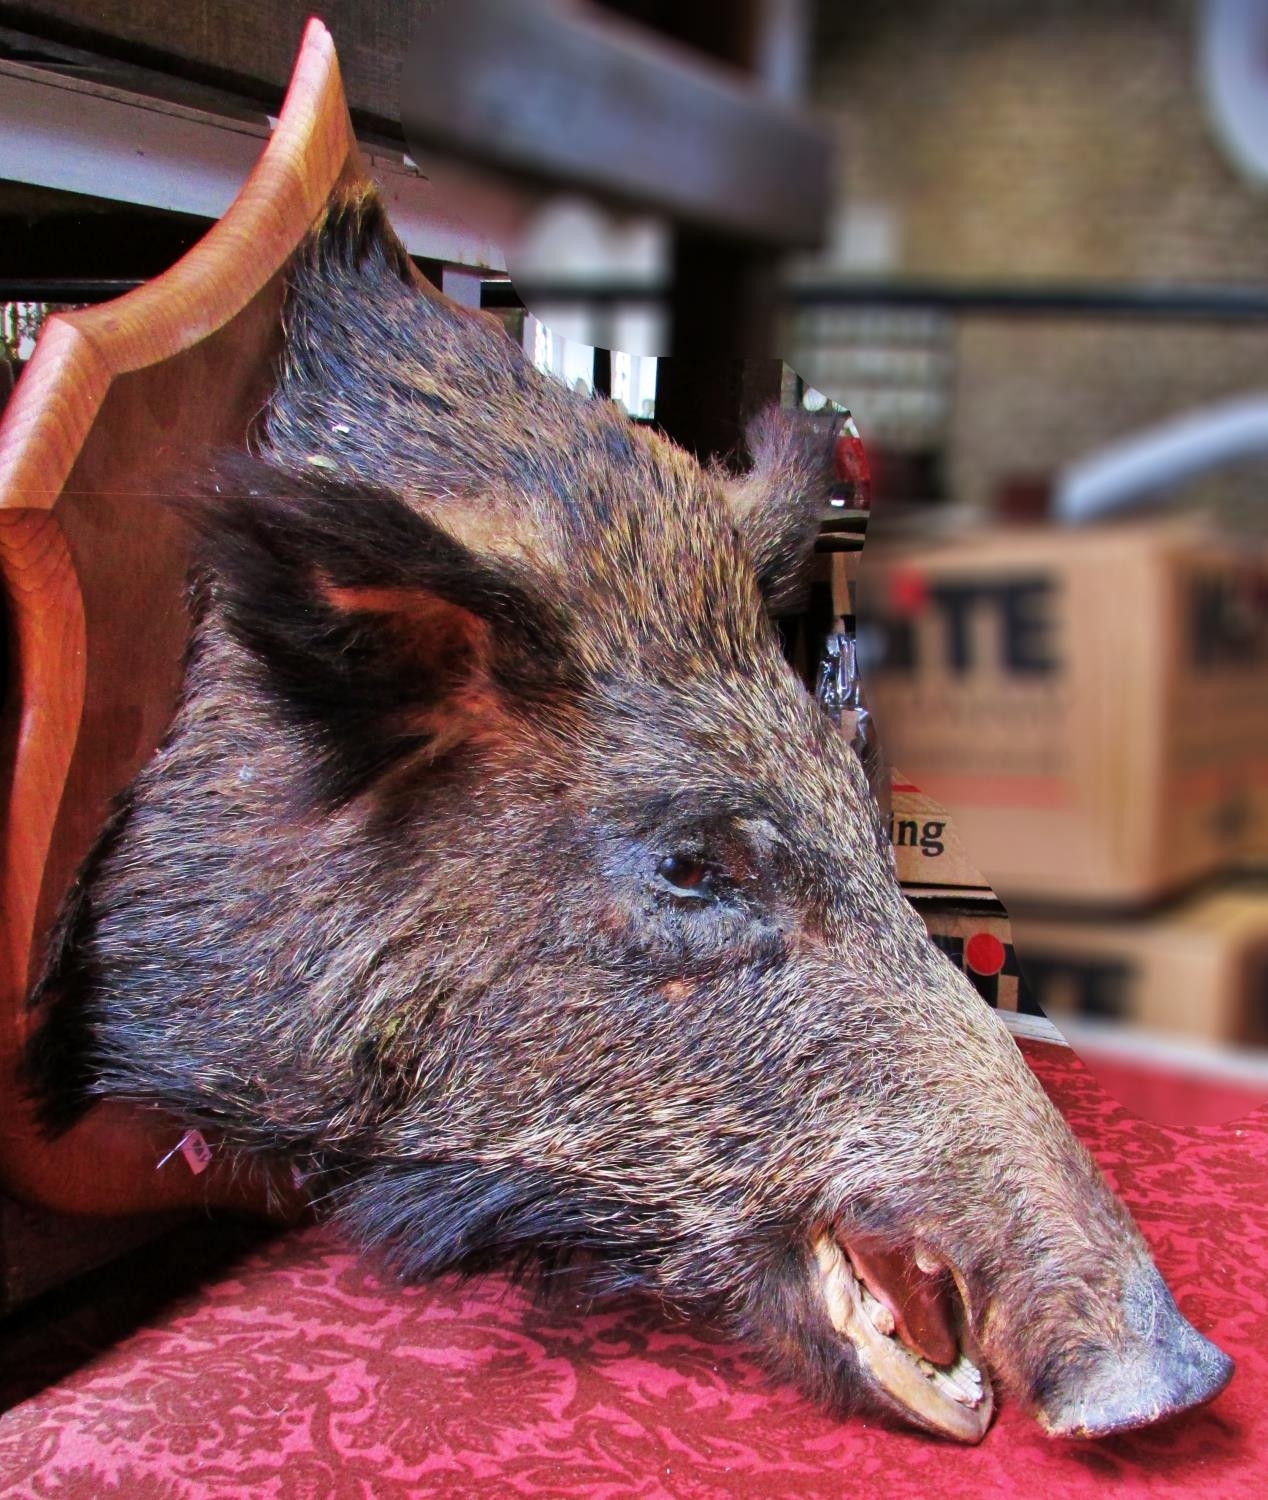
{"type": "Polygon", "coordinates": [[[1268,552],[1193,520],[873,537],[858,590],[899,878],[983,996],[1268,1046],[1268,552]]]}

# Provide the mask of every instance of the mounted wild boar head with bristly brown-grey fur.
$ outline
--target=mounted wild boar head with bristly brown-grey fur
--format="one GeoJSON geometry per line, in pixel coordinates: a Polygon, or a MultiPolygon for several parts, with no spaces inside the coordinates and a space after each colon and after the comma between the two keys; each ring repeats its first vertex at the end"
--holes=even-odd
{"type": "Polygon", "coordinates": [[[1200,1400],[1223,1356],[780,658],[831,434],[750,446],[732,480],[578,399],[332,204],[260,453],[191,502],[180,711],[36,990],[45,1120],[114,1096],[290,1156],[408,1276],[581,1256],[840,1410],[989,1418],[843,1332],[893,1292],[869,1245],[948,1268],[957,1347],[1056,1431],[1200,1400]]]}

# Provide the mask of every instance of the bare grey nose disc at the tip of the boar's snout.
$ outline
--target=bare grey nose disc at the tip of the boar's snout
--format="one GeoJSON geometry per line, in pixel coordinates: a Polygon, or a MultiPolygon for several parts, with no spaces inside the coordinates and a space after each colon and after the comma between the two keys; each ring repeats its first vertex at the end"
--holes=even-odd
{"type": "Polygon", "coordinates": [[[1122,1299],[1131,1342],[1071,1371],[1040,1420],[1056,1437],[1106,1437],[1187,1412],[1218,1395],[1233,1362],[1185,1322],[1152,1266],[1122,1299]]]}

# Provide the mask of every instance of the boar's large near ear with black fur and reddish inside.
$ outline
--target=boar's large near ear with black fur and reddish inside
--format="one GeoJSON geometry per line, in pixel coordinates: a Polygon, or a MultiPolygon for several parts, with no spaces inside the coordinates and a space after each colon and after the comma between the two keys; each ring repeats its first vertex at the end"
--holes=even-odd
{"type": "Polygon", "coordinates": [[[405,754],[497,735],[570,684],[564,624],[528,570],[477,555],[398,495],[255,460],[186,506],[207,600],[347,801],[405,754]]]}

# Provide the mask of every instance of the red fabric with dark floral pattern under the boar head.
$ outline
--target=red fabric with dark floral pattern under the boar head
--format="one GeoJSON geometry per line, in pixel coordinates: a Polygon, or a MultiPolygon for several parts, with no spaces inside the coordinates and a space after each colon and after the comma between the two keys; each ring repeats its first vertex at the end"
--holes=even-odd
{"type": "Polygon", "coordinates": [[[830,1420],[773,1389],[743,1350],[647,1300],[534,1306],[498,1276],[401,1288],[315,1228],[257,1245],[125,1336],[78,1326],[51,1352],[35,1324],[11,1336],[0,1388],[27,1395],[0,1418],[0,1488],[77,1500],[1061,1500],[1109,1480],[1115,1496],[1260,1500],[1268,1110],[1167,1131],[1128,1116],[1064,1048],[1028,1056],[1131,1206],[1181,1310],[1238,1360],[1197,1413],[1077,1444],[1005,1406],[980,1448],[956,1448],[830,1420]],[[60,1378],[35,1390],[41,1358],[60,1378]]]}

